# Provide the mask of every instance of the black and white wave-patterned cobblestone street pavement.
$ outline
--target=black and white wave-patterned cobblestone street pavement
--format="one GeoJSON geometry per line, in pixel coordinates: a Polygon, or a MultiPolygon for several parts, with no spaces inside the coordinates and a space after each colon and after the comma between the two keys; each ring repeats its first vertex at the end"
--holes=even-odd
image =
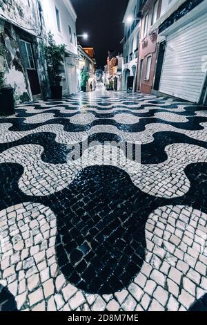
{"type": "Polygon", "coordinates": [[[0,310],[207,310],[206,163],[204,107],[101,87],[17,106],[0,119],[0,310]]]}

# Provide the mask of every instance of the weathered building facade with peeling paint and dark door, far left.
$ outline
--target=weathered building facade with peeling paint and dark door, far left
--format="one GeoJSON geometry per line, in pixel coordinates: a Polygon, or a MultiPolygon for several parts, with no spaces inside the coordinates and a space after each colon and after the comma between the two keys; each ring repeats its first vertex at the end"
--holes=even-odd
{"type": "Polygon", "coordinates": [[[0,37],[5,51],[0,57],[1,68],[6,72],[7,86],[14,89],[16,104],[48,97],[41,3],[37,0],[1,1],[0,37]]]}

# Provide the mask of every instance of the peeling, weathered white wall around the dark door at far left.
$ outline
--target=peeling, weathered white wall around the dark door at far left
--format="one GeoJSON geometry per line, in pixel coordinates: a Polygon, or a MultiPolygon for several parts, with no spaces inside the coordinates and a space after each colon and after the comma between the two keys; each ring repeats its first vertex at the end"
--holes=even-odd
{"type": "MultiPolygon", "coordinates": [[[[6,73],[6,84],[14,89],[16,103],[34,99],[30,89],[28,73],[21,57],[19,41],[28,37],[34,51],[40,86],[47,84],[46,64],[43,59],[42,41],[43,28],[37,0],[0,1],[0,36],[10,55],[0,57],[6,73]],[[17,28],[18,32],[17,32],[17,28]]],[[[48,95],[48,87],[41,89],[48,95]]]]}

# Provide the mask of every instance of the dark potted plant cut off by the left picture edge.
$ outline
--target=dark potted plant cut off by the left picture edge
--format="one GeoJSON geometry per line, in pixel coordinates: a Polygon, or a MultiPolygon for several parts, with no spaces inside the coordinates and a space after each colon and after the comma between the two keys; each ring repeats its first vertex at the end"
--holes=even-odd
{"type": "Polygon", "coordinates": [[[11,87],[6,86],[5,72],[3,66],[3,55],[6,50],[0,46],[0,115],[13,115],[14,114],[14,93],[11,87]]]}

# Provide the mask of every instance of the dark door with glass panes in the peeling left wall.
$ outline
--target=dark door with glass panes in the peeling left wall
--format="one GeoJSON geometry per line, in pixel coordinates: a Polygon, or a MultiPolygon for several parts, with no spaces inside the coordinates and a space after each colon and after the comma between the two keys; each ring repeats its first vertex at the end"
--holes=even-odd
{"type": "Polygon", "coordinates": [[[39,95],[41,93],[39,86],[39,77],[37,74],[36,65],[34,63],[34,55],[32,52],[32,45],[28,41],[20,41],[21,55],[23,57],[24,66],[28,73],[30,82],[30,89],[32,95],[39,95]]]}

